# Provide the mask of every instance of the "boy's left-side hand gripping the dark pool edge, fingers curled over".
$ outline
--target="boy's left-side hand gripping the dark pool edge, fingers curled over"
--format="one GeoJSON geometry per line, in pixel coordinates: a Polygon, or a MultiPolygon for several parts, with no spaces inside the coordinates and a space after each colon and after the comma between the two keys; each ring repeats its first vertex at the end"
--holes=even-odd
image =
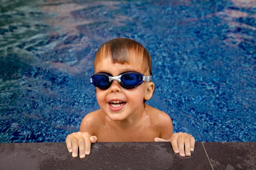
{"type": "Polygon", "coordinates": [[[67,135],[66,144],[67,150],[71,153],[72,157],[76,158],[78,155],[81,159],[85,158],[85,155],[89,155],[91,151],[91,144],[97,141],[96,136],[91,136],[88,132],[74,132],[67,135]]]}

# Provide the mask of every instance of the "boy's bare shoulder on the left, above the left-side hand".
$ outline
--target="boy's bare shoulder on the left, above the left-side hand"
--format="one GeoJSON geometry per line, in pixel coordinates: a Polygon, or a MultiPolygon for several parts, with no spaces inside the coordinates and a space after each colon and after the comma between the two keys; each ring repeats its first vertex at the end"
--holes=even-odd
{"type": "Polygon", "coordinates": [[[99,121],[102,119],[102,114],[100,110],[88,113],[83,117],[83,120],[80,124],[80,132],[94,132],[98,126],[99,121]]]}

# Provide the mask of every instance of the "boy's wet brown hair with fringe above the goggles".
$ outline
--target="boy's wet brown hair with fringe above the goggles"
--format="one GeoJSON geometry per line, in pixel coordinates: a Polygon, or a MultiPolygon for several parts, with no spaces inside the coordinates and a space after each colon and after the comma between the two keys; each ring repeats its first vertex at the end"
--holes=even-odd
{"type": "Polygon", "coordinates": [[[116,38],[104,43],[96,53],[94,66],[103,58],[110,57],[113,63],[139,64],[142,74],[152,75],[151,58],[144,46],[129,38],[116,38]]]}

